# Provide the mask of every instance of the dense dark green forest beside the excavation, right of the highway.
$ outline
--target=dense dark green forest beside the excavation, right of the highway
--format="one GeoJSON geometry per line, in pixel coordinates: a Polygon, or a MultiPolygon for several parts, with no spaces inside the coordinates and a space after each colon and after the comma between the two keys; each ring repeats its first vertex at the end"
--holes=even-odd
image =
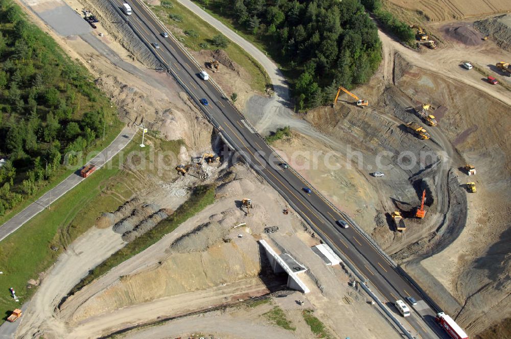
{"type": "Polygon", "coordinates": [[[202,0],[253,36],[291,82],[296,109],[331,102],[338,86],[353,88],[381,62],[375,23],[359,0],[202,0]]]}

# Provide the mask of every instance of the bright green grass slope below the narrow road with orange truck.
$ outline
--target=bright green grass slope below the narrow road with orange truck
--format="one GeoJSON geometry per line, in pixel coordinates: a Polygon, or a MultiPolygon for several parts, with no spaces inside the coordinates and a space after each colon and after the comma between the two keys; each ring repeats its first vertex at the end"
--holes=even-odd
{"type": "MultiPolygon", "coordinates": [[[[128,150],[133,147],[137,145],[131,143],[128,150]]],[[[18,231],[2,240],[0,268],[4,274],[0,279],[0,290],[7,291],[9,287],[13,287],[20,301],[27,301],[35,292],[35,288],[27,286],[27,281],[37,279],[38,274],[48,269],[56,260],[66,243],[73,241],[83,230],[94,225],[94,222],[76,224],[73,221],[82,209],[98,205],[97,199],[102,187],[119,174],[122,167],[120,156],[117,155],[110,161],[112,166],[96,171],[54,202],[51,209],[40,212],[18,231]],[[69,227],[72,229],[69,230],[69,227]],[[66,234],[65,243],[62,241],[63,234],[66,234]],[[51,246],[56,246],[59,250],[52,251],[51,246]]],[[[111,205],[111,202],[102,201],[100,205],[108,208],[109,204],[111,205]]],[[[19,304],[9,293],[0,294],[0,314],[7,314],[16,307],[19,307],[19,304]]]]}

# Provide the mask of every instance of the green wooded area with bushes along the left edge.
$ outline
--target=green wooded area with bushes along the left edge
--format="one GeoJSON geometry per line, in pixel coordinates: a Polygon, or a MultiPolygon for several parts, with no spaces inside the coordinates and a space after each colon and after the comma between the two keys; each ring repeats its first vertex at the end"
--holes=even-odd
{"type": "Polygon", "coordinates": [[[17,5],[0,0],[0,216],[64,173],[64,154],[119,126],[88,71],[17,5]]]}

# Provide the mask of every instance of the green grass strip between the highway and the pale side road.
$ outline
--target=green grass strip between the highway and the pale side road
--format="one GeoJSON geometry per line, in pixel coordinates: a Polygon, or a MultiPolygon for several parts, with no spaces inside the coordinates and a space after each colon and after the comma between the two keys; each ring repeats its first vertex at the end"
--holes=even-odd
{"type": "MultiPolygon", "coordinates": [[[[202,20],[198,15],[182,6],[178,2],[170,3],[173,6],[172,8],[166,8],[162,6],[152,6],[152,8],[160,20],[167,26],[177,28],[173,30],[173,34],[176,36],[176,38],[180,40],[185,46],[194,51],[199,51],[202,49],[200,47],[201,43],[207,43],[208,49],[215,50],[216,47],[211,44],[211,39],[215,35],[221,33],[213,28],[213,26],[202,20]],[[171,19],[169,17],[171,14],[180,15],[183,18],[182,22],[177,22],[171,19]],[[183,32],[188,30],[197,32],[199,36],[194,38],[185,35],[183,32]]],[[[259,62],[257,62],[248,53],[246,53],[240,46],[229,40],[229,44],[224,50],[233,61],[243,67],[248,72],[248,74],[250,74],[252,79],[249,82],[249,85],[253,90],[264,92],[266,86],[271,84],[271,81],[263,66],[261,66],[259,62]]]]}

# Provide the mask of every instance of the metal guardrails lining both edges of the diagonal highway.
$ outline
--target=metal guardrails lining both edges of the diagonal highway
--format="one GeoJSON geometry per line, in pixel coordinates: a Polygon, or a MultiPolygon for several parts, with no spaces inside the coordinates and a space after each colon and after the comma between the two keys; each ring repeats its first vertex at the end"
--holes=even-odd
{"type": "MultiPolygon", "coordinates": [[[[115,6],[114,4],[112,4],[111,0],[109,0],[110,4],[112,5],[112,7],[114,7],[115,9],[117,9],[118,12],[120,12],[120,9],[117,8],[117,6],[115,6]]],[[[156,16],[151,12],[151,10],[145,5],[143,4],[144,7],[146,7],[146,10],[148,11],[148,13],[150,13],[150,15],[152,15],[156,21],[158,21],[158,19],[156,18],[156,16]]],[[[121,17],[122,17],[122,12],[120,13],[121,14],[121,17]]],[[[174,71],[172,71],[172,69],[170,69],[169,67],[167,67],[166,63],[161,60],[161,58],[156,54],[154,53],[154,51],[152,51],[150,45],[144,40],[144,38],[134,29],[134,27],[131,25],[131,22],[129,22],[129,20],[125,20],[127,22],[127,24],[131,27],[131,29],[133,30],[133,32],[138,36],[138,38],[148,47],[148,49],[153,53],[153,55],[155,56],[155,58],[161,63],[161,65],[167,69],[167,74],[171,75],[175,80],[176,82],[188,93],[188,95],[190,96],[190,98],[192,98],[192,100],[194,100],[197,104],[197,107],[199,107],[200,111],[203,113],[204,117],[214,126],[215,130],[218,132],[218,134],[220,135],[220,137],[222,138],[222,140],[227,144],[227,146],[232,149],[232,150],[237,150],[238,153],[242,156],[242,158],[245,160],[245,162],[247,164],[250,164],[251,161],[250,161],[250,158],[244,153],[242,152],[241,150],[238,150],[236,147],[234,147],[233,145],[235,144],[234,142],[231,142],[229,136],[226,134],[226,133],[223,133],[223,130],[221,129],[220,125],[216,122],[215,118],[209,113],[207,112],[207,110],[204,109],[204,107],[202,107],[202,105],[200,105],[200,103],[197,102],[197,100],[194,99],[194,95],[192,95],[192,93],[190,92],[190,90],[188,89],[187,86],[185,86],[181,80],[179,79],[179,77],[174,73],[174,71]]],[[[188,53],[188,51],[186,51],[186,49],[184,48],[184,46],[177,40],[175,39],[175,37],[172,35],[172,34],[169,34],[169,36],[172,37],[173,41],[175,41],[180,47],[181,47],[181,50],[184,51],[189,59],[191,61],[193,61],[198,67],[199,69],[202,69],[202,67],[200,67],[200,64],[195,60],[195,58],[193,58],[192,55],[190,55],[188,53]]],[[[218,89],[219,93],[222,94],[222,96],[227,100],[227,102],[229,103],[229,105],[231,107],[234,108],[234,110],[241,116],[243,117],[245,123],[247,123],[250,128],[253,130],[254,134],[256,134],[264,143],[267,144],[268,148],[270,150],[273,151],[273,153],[277,156],[278,159],[282,160],[282,162],[284,162],[284,159],[278,155],[275,150],[270,146],[270,144],[266,141],[266,139],[259,133],[259,131],[245,118],[245,116],[243,115],[243,113],[240,112],[240,110],[230,101],[228,100],[227,96],[225,96],[225,93],[223,92],[223,90],[215,83],[215,82],[212,82],[214,84],[214,86],[218,89]]],[[[265,178],[266,182],[268,182],[270,184],[270,186],[272,186],[277,192],[280,193],[280,195],[282,197],[284,197],[285,200],[287,200],[288,204],[295,210],[297,211],[298,214],[300,214],[304,220],[307,222],[307,224],[309,224],[309,226],[319,235],[321,235],[321,232],[316,229],[316,227],[314,226],[314,224],[312,224],[311,222],[308,221],[306,215],[301,212],[301,210],[299,208],[297,208],[297,206],[291,201],[291,199],[286,199],[286,195],[285,193],[280,189],[280,187],[278,187],[277,185],[275,185],[265,174],[263,171],[260,171],[259,168],[257,166],[253,166],[252,167],[254,169],[255,172],[259,173],[259,175],[261,175],[263,178],[265,178]]],[[[293,173],[301,180],[303,181],[304,183],[306,183],[309,187],[312,187],[314,189],[314,192],[316,193],[316,195],[318,195],[318,197],[320,197],[324,202],[326,202],[327,204],[329,204],[329,206],[331,206],[334,210],[336,210],[340,215],[342,215],[343,217],[345,217],[347,220],[350,221],[350,223],[352,223],[352,225],[354,226],[354,228],[362,235],[364,236],[364,238],[366,238],[368,241],[369,241],[369,244],[371,246],[373,246],[378,252],[380,252],[383,257],[388,261],[389,264],[391,264],[393,267],[398,267],[398,265],[385,253],[383,252],[380,247],[375,243],[375,241],[369,236],[367,235],[367,233],[365,233],[365,231],[363,231],[356,223],[353,219],[351,219],[351,217],[349,215],[347,215],[346,213],[342,212],[341,210],[339,210],[336,206],[334,206],[330,201],[328,201],[317,189],[315,189],[312,185],[310,185],[310,183],[304,178],[302,177],[298,172],[296,172],[292,167],[289,167],[291,168],[291,170],[293,171],[293,173]],[[387,259],[388,258],[388,259],[387,259]]],[[[409,339],[414,339],[413,336],[411,336],[411,334],[406,330],[406,328],[403,327],[403,325],[399,322],[399,320],[393,316],[393,314],[388,310],[388,308],[378,299],[378,297],[370,290],[369,287],[366,286],[366,278],[354,267],[354,265],[350,262],[350,260],[347,260],[347,258],[340,252],[337,250],[337,248],[331,243],[331,241],[325,237],[325,238],[321,238],[322,241],[326,244],[328,244],[335,252],[336,254],[343,260],[344,264],[347,265],[347,267],[349,267],[349,269],[357,276],[358,279],[360,279],[360,281],[362,281],[362,283],[360,284],[362,286],[362,288],[366,291],[366,293],[373,299],[375,300],[375,302],[379,305],[379,307],[385,312],[385,314],[387,314],[387,316],[392,319],[392,321],[403,331],[403,334],[406,335],[409,339]]],[[[400,271],[400,272],[404,272],[404,271],[400,271]]],[[[408,276],[406,275],[405,278],[407,280],[409,280],[415,287],[418,286],[416,283],[413,282],[413,280],[408,276]]],[[[418,290],[420,290],[421,292],[423,292],[423,290],[421,288],[418,288],[418,290]]],[[[423,293],[424,296],[426,296],[425,293],[423,293]]],[[[429,297],[427,297],[428,300],[429,297]]],[[[436,305],[433,303],[433,305],[436,305]]]]}

